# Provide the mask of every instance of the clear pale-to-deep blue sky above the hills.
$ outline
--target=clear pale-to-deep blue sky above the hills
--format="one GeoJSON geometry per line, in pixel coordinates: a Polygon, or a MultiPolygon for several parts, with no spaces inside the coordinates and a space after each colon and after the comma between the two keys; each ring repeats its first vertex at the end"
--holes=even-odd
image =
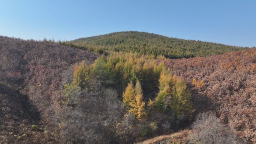
{"type": "Polygon", "coordinates": [[[256,0],[0,0],[0,35],[76,38],[136,30],[256,46],[256,0]]]}

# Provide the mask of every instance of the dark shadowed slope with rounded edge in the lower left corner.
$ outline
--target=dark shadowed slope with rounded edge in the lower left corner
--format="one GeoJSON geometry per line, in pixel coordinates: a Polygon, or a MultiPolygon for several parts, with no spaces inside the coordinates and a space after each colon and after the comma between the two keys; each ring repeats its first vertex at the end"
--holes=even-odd
{"type": "Polygon", "coordinates": [[[40,114],[28,97],[0,83],[0,143],[46,143],[40,114]],[[32,127],[34,125],[34,127],[32,127]]]}

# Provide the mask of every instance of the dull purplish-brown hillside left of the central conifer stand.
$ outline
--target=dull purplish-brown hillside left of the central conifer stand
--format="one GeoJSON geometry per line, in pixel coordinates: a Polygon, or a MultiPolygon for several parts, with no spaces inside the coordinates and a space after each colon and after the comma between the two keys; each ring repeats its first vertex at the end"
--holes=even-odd
{"type": "Polygon", "coordinates": [[[97,57],[58,44],[0,36],[0,143],[56,143],[50,122],[59,92],[72,78],[72,64],[97,57]]]}

